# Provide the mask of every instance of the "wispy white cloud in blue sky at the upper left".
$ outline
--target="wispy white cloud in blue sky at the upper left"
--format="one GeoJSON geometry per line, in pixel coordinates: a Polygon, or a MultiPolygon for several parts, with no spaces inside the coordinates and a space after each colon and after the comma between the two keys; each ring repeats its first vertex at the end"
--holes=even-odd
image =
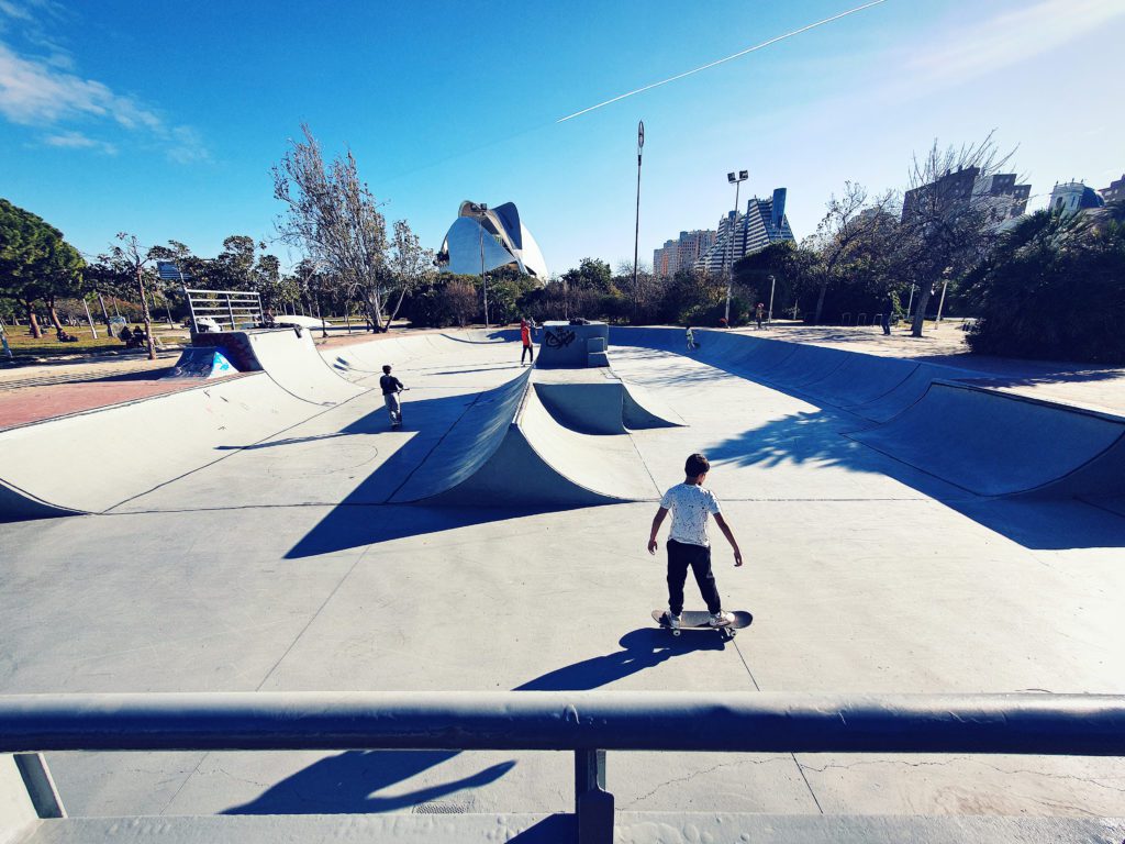
{"type": "Polygon", "coordinates": [[[0,42],[0,115],[25,126],[61,127],[75,120],[116,124],[155,140],[173,161],[208,159],[195,129],[170,126],[134,98],[58,65],[57,55],[52,60],[27,57],[0,42]]]}

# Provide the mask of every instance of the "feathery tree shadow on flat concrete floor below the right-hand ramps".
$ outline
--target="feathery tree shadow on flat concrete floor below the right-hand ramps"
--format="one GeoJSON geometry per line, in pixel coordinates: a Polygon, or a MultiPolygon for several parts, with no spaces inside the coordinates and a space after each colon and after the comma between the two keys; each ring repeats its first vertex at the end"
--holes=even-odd
{"type": "Polygon", "coordinates": [[[704,449],[721,466],[784,463],[835,466],[885,475],[996,531],[1025,548],[1125,547],[1125,519],[1077,499],[986,497],[954,486],[844,437],[854,419],[830,411],[806,411],[742,431],[704,449]]]}

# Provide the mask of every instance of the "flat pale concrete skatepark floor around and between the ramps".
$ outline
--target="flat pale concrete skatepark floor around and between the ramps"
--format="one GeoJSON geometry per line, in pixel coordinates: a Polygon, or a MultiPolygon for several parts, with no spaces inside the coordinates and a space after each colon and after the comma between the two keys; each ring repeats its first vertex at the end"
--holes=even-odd
{"type": "MultiPolygon", "coordinates": [[[[705,353],[712,332],[699,333],[705,353]]],[[[874,394],[900,377],[899,387],[920,381],[917,368],[892,361],[878,389],[866,384],[842,398],[846,381],[834,371],[860,365],[826,365],[819,380],[826,396],[834,384],[828,401],[813,396],[812,383],[798,393],[744,377],[753,358],[777,367],[792,349],[706,359],[655,348],[662,336],[636,334],[637,345],[612,349],[613,370],[686,425],[585,437],[628,440],[630,470],[644,470],[654,496],[682,479],[686,455],[711,457],[708,485],[747,559],[732,568],[712,531],[719,589],[728,608],[755,616],[735,641],[672,639],[651,625],[649,612],[666,600],[663,549],[656,558],[645,550],[654,502],[387,503],[478,396],[521,375],[518,344],[439,339],[350,354],[353,363],[395,363],[413,387],[403,431],[388,430],[377,392],[327,408],[305,403],[321,412],[256,442],[231,437],[237,448],[226,459],[109,514],[0,526],[2,547],[17,549],[0,565],[0,691],[1125,693],[1125,519],[1078,500],[975,495],[845,436],[879,422],[845,399],[878,403],[874,394]]],[[[369,377],[350,371],[360,387],[369,377]]],[[[912,384],[910,395],[918,389],[912,384]]],[[[624,460],[614,448],[604,452],[608,467],[624,460]]],[[[559,454],[569,449],[567,440],[559,454]]],[[[508,482],[520,488],[519,475],[508,482]]],[[[693,586],[688,605],[699,605],[693,586]]],[[[552,753],[57,754],[50,762],[72,815],[165,820],[278,811],[397,818],[433,803],[542,817],[568,810],[573,788],[570,756],[552,753]]],[[[610,755],[609,788],[626,812],[709,818],[1020,815],[1030,826],[1011,833],[1018,839],[1043,829],[1034,816],[1119,816],[1125,764],[622,753],[610,755]]],[[[1091,837],[1114,829],[1081,823],[1091,837]]],[[[807,839],[846,839],[829,837],[835,819],[808,824],[807,839]]],[[[935,824],[934,839],[955,841],[971,821],[935,824]]],[[[893,839],[892,826],[873,839],[893,839]]]]}

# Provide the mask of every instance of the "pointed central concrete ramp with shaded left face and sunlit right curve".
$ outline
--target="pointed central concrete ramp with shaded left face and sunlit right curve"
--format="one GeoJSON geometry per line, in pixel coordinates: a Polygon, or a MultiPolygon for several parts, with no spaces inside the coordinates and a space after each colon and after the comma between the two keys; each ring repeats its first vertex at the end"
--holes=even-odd
{"type": "Polygon", "coordinates": [[[483,393],[393,496],[454,506],[591,506],[652,500],[656,485],[627,434],[560,425],[531,370],[483,393]]]}

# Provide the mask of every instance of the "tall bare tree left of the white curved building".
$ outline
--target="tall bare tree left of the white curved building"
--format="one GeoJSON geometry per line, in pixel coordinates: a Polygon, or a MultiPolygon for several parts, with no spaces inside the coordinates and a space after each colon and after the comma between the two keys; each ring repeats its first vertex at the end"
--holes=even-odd
{"type": "Polygon", "coordinates": [[[359,298],[378,331],[385,309],[387,222],[351,152],[326,167],[308,126],[300,128],[305,140],[290,142],[292,149],[273,168],[273,196],[286,205],[278,231],[339,279],[349,298],[359,298]]]}

